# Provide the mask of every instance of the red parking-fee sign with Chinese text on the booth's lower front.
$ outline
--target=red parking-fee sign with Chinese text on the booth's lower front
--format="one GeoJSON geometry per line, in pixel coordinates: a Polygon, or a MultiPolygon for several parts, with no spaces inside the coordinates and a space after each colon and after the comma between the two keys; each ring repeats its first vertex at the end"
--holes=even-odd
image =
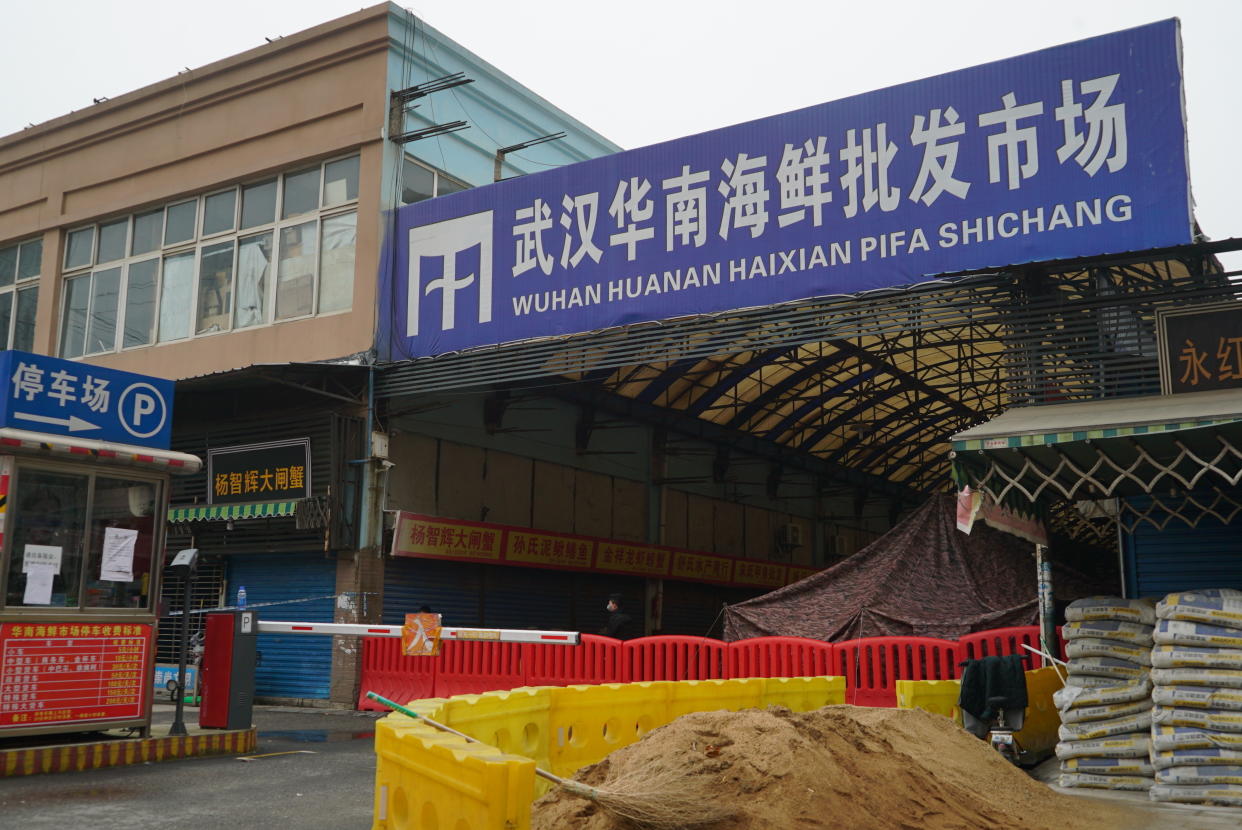
{"type": "Polygon", "coordinates": [[[143,719],[150,645],[149,624],[0,625],[0,729],[143,719]]]}

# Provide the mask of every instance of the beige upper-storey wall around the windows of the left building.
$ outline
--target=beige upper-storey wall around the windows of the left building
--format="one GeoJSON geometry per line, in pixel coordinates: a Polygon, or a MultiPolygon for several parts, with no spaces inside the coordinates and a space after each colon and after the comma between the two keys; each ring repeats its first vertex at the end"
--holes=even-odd
{"type": "Polygon", "coordinates": [[[381,241],[381,5],[0,138],[0,244],[42,235],[35,349],[56,353],[68,229],[360,150],[353,308],[92,363],[184,378],[371,347],[381,241]]]}

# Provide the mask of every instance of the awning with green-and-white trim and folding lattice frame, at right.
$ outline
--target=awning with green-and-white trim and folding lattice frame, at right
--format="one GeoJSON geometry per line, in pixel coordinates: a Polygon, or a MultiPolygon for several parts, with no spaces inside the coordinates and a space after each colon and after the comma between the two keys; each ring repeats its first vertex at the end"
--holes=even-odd
{"type": "Polygon", "coordinates": [[[1242,389],[1025,406],[951,441],[959,483],[1007,503],[1233,487],[1242,389]]]}

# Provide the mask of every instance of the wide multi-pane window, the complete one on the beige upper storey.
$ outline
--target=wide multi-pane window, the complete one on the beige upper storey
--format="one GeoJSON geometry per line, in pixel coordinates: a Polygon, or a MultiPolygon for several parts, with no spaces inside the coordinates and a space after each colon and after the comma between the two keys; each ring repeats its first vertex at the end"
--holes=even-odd
{"type": "MultiPolygon", "coordinates": [[[[71,230],[61,357],[348,311],[358,171],[358,155],[333,159],[71,230]]],[[[20,257],[14,253],[14,273],[21,268],[17,260],[25,262],[27,245],[39,242],[21,245],[20,257]]],[[[0,268],[9,250],[0,249],[0,268]]],[[[37,277],[37,255],[34,275],[24,278],[37,277]]],[[[26,308],[21,285],[17,285],[17,317],[27,313],[32,340],[34,288],[26,308]]],[[[4,291],[0,286],[0,312],[4,291]]],[[[10,308],[12,302],[10,297],[10,308]]]]}

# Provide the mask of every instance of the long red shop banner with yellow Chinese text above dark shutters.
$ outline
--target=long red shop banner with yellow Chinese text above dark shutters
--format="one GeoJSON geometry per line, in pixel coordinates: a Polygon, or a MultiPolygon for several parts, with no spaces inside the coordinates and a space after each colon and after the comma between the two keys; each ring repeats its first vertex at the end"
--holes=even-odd
{"type": "Polygon", "coordinates": [[[394,557],[594,570],[746,588],[780,588],[816,568],[507,524],[397,513],[394,557]]]}

